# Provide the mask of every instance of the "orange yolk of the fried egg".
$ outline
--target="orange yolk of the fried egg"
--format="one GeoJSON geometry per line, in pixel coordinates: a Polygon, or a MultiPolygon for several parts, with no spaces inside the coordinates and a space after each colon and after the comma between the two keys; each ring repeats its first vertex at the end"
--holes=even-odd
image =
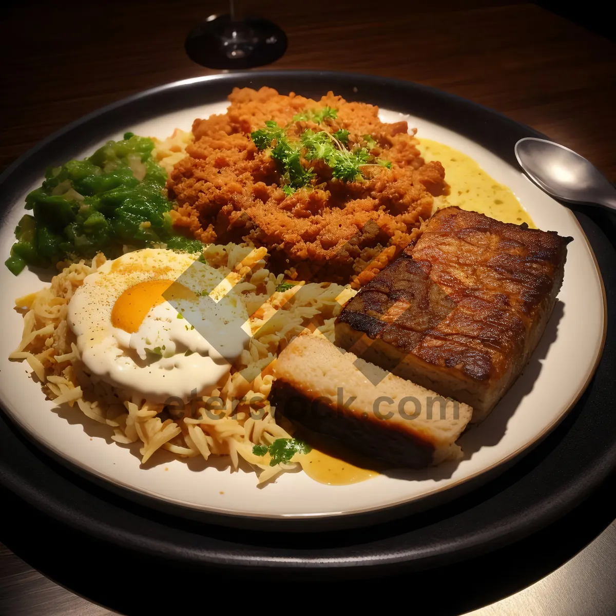
{"type": "Polygon", "coordinates": [[[152,308],[171,299],[197,299],[197,295],[172,280],[140,282],[129,287],[116,299],[111,310],[111,324],[120,330],[128,331],[129,334],[134,334],[152,308]]]}

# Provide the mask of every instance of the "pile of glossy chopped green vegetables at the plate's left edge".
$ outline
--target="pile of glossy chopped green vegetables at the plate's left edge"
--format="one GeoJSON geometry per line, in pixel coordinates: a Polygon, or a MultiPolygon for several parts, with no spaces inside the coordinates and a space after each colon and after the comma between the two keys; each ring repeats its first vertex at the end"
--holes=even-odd
{"type": "Polygon", "coordinates": [[[163,194],[166,172],[152,159],[154,142],[126,132],[84,160],[47,169],[41,187],[26,197],[6,265],[17,275],[25,265],[50,267],[65,258],[120,256],[123,245],[166,244],[202,252],[200,241],[174,235],[163,194]]]}

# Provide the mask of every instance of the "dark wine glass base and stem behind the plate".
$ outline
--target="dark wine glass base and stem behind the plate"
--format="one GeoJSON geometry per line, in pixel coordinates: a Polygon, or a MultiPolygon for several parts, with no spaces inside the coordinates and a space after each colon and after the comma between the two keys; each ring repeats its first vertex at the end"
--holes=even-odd
{"type": "Polygon", "coordinates": [[[208,68],[252,68],[278,60],[286,34],[260,17],[243,17],[240,2],[229,1],[229,15],[211,15],[188,34],[188,57],[208,68]]]}

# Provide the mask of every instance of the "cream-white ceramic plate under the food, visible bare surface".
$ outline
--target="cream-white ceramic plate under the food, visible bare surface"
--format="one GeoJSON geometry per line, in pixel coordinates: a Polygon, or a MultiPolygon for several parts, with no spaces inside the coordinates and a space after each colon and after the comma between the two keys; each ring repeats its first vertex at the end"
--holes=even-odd
{"type": "MultiPolygon", "coordinates": [[[[174,128],[190,129],[192,121],[211,113],[224,113],[227,103],[188,108],[155,120],[131,124],[107,139],[120,139],[124,131],[164,138],[174,128]]],[[[55,408],[45,400],[29,376],[26,363],[6,358],[21,339],[22,317],[13,299],[36,291],[47,281],[25,270],[18,277],[0,270],[0,400],[10,416],[40,444],[63,460],[113,485],[160,501],[213,513],[249,517],[325,517],[387,508],[442,493],[511,460],[537,444],[565,416],[582,394],[601,354],[605,331],[605,304],[601,275],[585,235],[573,214],[533,185],[519,169],[456,132],[421,118],[381,110],[384,121],[408,120],[418,137],[450,145],[474,158],[495,180],[508,185],[540,229],[573,237],[569,245],[564,283],[554,314],[524,374],[492,414],[461,439],[466,457],[425,471],[400,471],[360,484],[322,485],[301,472],[284,474],[275,484],[256,487],[252,472],[230,472],[224,458],[205,467],[195,459],[174,460],[166,452],[142,468],[136,445],[116,445],[110,431],[75,408],[55,408]]],[[[101,142],[102,144],[102,142],[101,142]]],[[[75,152],[76,158],[94,152],[75,152]]],[[[55,161],[57,162],[57,161],[55,161]]],[[[14,241],[14,227],[23,214],[23,198],[40,184],[4,204],[10,213],[0,229],[2,261],[14,241]]],[[[487,474],[486,474],[487,476],[487,474]]]]}

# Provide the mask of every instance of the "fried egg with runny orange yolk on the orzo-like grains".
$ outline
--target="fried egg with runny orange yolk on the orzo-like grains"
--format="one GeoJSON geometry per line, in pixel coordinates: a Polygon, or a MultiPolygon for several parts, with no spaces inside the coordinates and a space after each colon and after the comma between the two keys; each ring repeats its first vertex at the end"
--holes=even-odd
{"type": "Polygon", "coordinates": [[[227,272],[146,248],[107,261],[68,304],[87,371],[159,403],[208,394],[248,346],[248,312],[227,272]]]}

